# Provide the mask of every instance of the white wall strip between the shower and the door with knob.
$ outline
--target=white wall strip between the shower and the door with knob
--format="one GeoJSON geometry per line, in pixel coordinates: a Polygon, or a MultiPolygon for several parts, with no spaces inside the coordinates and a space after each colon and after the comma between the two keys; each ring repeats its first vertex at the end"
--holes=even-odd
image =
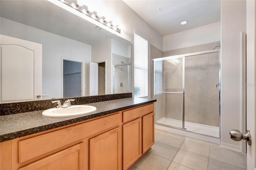
{"type": "Polygon", "coordinates": [[[240,32],[246,32],[246,1],[221,1],[221,145],[241,150],[229,130],[241,130],[240,32]]]}

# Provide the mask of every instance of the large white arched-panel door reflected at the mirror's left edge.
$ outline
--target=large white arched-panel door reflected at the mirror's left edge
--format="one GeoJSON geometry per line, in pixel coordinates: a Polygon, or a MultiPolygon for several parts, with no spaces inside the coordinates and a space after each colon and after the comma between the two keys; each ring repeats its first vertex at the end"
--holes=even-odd
{"type": "Polygon", "coordinates": [[[42,44],[0,35],[0,103],[42,99],[42,44]]]}

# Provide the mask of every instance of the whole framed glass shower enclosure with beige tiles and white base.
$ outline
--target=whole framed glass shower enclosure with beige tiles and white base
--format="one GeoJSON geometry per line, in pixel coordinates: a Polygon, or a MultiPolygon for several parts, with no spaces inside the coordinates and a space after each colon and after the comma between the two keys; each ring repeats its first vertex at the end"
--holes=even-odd
{"type": "Polygon", "coordinates": [[[157,125],[220,137],[219,50],[152,60],[157,125]]]}

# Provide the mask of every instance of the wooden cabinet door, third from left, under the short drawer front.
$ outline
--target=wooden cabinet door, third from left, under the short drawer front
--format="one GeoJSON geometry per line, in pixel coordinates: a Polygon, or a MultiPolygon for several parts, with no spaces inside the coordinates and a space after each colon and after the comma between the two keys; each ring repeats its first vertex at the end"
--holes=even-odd
{"type": "Polygon", "coordinates": [[[141,118],[123,125],[123,169],[142,156],[141,118]]]}

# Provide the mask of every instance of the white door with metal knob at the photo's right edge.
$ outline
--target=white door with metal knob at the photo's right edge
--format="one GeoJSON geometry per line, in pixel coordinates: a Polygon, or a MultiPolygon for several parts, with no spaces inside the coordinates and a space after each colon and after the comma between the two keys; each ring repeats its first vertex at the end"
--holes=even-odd
{"type": "Polygon", "coordinates": [[[252,145],[247,142],[247,169],[256,170],[256,2],[246,1],[246,128],[252,145]]]}

